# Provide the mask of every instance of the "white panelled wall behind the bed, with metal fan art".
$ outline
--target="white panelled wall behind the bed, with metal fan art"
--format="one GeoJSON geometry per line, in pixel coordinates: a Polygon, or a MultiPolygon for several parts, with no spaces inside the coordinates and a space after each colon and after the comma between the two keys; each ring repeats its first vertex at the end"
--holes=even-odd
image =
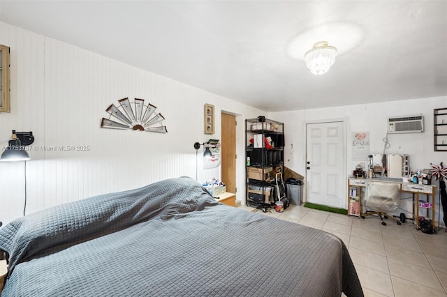
{"type": "MultiPolygon", "coordinates": [[[[36,138],[26,163],[27,213],[165,178],[195,178],[193,143],[220,139],[221,111],[240,120],[265,114],[4,22],[0,22],[0,44],[11,52],[11,112],[0,114],[0,146],[8,146],[13,129],[33,131],[36,138]],[[126,97],[155,105],[166,119],[168,133],[100,128],[101,118],[108,117],[105,109],[126,97]],[[214,135],[203,132],[205,103],[215,106],[214,135]],[[89,148],[64,151],[60,146],[89,148]]],[[[237,143],[244,142],[243,129],[244,125],[237,126],[237,143]]],[[[200,149],[199,157],[202,153],[200,149]]],[[[237,154],[244,155],[243,146],[237,154]]],[[[219,177],[220,167],[203,170],[202,166],[199,158],[199,181],[219,177]]],[[[244,174],[243,158],[236,170],[244,174]]],[[[244,189],[244,178],[237,178],[237,188],[244,189]]],[[[3,223],[22,215],[24,189],[24,162],[1,162],[3,223]]],[[[243,197],[240,190],[237,199],[243,197]]]]}

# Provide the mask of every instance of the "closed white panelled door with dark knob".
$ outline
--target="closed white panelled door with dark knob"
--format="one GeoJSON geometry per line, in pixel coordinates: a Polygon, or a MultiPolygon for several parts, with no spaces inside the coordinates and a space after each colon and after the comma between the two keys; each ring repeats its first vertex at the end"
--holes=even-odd
{"type": "Polygon", "coordinates": [[[309,123],[307,139],[307,201],[346,208],[343,122],[309,123]]]}

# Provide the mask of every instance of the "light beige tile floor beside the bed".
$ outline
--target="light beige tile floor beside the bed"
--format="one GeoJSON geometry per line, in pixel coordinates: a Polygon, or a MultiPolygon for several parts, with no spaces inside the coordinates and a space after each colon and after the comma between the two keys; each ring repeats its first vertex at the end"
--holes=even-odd
{"type": "MultiPolygon", "coordinates": [[[[240,206],[254,212],[256,208],[240,206]]],[[[413,222],[397,225],[377,217],[359,219],[304,206],[272,209],[260,215],[323,229],[338,236],[349,249],[365,296],[447,297],[447,234],[424,234],[413,222]]]]}

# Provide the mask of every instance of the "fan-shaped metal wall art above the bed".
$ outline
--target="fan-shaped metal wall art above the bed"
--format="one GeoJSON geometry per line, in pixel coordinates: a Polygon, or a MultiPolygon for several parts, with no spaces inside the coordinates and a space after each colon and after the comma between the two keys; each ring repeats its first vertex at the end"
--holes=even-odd
{"type": "Polygon", "coordinates": [[[135,98],[133,103],[129,101],[129,98],[120,99],[118,103],[118,107],[112,103],[105,109],[109,117],[102,119],[101,128],[140,130],[163,134],[168,132],[162,123],[165,118],[160,113],[155,113],[154,105],[150,103],[145,105],[145,100],[138,98],[135,98]]]}

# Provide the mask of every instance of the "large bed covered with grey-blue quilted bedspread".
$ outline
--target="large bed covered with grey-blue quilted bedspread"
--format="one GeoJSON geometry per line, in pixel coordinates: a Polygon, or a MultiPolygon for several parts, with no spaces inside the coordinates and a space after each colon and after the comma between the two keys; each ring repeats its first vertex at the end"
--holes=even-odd
{"type": "Polygon", "coordinates": [[[0,229],[1,296],[363,296],[344,243],[215,201],[192,178],[47,208],[0,229]]]}

